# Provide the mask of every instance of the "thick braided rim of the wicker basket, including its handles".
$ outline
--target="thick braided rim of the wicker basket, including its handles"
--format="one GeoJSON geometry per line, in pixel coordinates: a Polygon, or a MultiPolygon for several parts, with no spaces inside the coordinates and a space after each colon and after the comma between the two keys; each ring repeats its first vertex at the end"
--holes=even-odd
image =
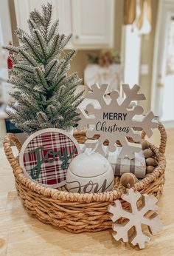
{"type": "MultiPolygon", "coordinates": [[[[166,167],[166,158],[164,156],[165,145],[167,141],[167,135],[165,129],[161,123],[158,125],[159,131],[161,133],[161,144],[159,148],[153,144],[150,144],[150,148],[155,152],[156,157],[158,158],[158,166],[156,169],[150,174],[147,175],[142,180],[139,180],[137,183],[134,184],[133,189],[140,191],[142,189],[147,188],[147,186],[156,181],[165,171],[166,167]],[[162,145],[162,146],[161,146],[162,145]]],[[[142,132],[142,138],[145,138],[145,132],[142,132]]],[[[18,183],[21,183],[21,186],[27,187],[31,190],[31,192],[36,192],[38,195],[44,196],[46,198],[52,198],[52,200],[60,200],[60,201],[72,201],[72,202],[111,202],[121,197],[122,193],[125,192],[125,188],[114,189],[108,192],[100,192],[100,193],[86,193],[80,194],[77,192],[68,192],[54,188],[48,188],[42,186],[39,183],[35,183],[34,181],[30,180],[24,175],[23,169],[19,166],[19,163],[15,156],[13,155],[12,148],[10,146],[10,142],[13,141],[15,146],[17,147],[18,151],[21,149],[21,143],[18,141],[18,138],[9,133],[4,138],[4,152],[7,156],[10,165],[13,168],[13,173],[15,175],[15,180],[18,183]]]]}

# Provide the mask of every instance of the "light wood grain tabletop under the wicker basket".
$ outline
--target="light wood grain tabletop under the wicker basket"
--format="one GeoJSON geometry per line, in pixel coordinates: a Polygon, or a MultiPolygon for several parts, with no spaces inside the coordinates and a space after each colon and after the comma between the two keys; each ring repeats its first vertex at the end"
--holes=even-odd
{"type": "MultiPolygon", "coordinates": [[[[27,214],[15,191],[12,169],[0,149],[0,255],[174,255],[174,129],[167,130],[167,169],[159,215],[164,224],[146,249],[116,242],[111,230],[74,235],[40,223],[27,214]]],[[[154,132],[155,144],[159,133],[154,132]]]]}

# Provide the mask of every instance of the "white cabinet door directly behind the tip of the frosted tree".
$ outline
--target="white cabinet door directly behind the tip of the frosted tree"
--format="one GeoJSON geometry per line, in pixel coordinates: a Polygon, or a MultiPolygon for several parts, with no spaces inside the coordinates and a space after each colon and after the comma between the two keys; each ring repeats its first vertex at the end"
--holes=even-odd
{"type": "MultiPolygon", "coordinates": [[[[15,14],[18,27],[29,32],[27,20],[32,10],[41,11],[41,5],[47,0],[15,0],[15,14]]],[[[52,3],[52,21],[59,19],[59,33],[69,35],[72,33],[71,0],[49,0],[52,3]]]]}

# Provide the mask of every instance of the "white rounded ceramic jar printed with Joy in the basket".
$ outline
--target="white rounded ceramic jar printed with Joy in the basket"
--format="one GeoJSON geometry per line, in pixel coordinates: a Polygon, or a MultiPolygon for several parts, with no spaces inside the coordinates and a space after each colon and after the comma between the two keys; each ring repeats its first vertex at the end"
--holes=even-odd
{"type": "Polygon", "coordinates": [[[102,155],[92,152],[77,155],[66,172],[66,188],[69,192],[99,193],[114,186],[111,164],[102,155]]]}

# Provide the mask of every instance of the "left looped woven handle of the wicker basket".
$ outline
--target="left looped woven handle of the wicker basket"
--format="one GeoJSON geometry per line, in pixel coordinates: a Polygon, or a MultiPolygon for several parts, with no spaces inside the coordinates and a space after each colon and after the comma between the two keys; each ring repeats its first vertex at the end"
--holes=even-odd
{"type": "Polygon", "coordinates": [[[6,137],[4,138],[4,152],[7,156],[7,159],[10,163],[10,165],[13,167],[18,167],[18,161],[15,159],[15,156],[13,155],[11,142],[17,147],[18,151],[21,150],[21,142],[18,141],[18,138],[13,133],[7,133],[6,137]]]}

